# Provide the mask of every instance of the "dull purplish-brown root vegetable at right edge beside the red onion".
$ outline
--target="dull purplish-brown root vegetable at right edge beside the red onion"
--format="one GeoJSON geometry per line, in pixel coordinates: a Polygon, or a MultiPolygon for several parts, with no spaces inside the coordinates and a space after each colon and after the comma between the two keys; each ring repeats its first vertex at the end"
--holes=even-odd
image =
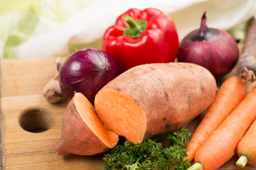
{"type": "Polygon", "coordinates": [[[256,22],[252,17],[247,27],[245,43],[238,60],[238,74],[242,81],[256,80],[256,22]]]}

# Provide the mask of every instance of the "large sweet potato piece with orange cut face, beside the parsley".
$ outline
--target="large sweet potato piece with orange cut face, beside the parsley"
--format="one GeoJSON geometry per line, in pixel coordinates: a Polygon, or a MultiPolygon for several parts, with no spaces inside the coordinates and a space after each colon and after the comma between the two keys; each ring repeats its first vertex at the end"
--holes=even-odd
{"type": "Polygon", "coordinates": [[[144,64],[110,81],[95,96],[105,128],[134,143],[174,132],[210,106],[216,81],[191,63],[144,64]]]}

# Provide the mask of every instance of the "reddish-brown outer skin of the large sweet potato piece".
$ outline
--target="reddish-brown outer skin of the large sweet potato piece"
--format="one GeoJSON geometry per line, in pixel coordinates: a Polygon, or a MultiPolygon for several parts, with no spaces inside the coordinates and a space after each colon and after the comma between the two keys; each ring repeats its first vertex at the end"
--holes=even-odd
{"type": "MultiPolygon", "coordinates": [[[[128,94],[141,106],[146,117],[144,137],[142,140],[128,139],[139,143],[155,135],[174,132],[203,113],[213,102],[217,86],[213,75],[204,67],[178,62],[133,67],[101,91],[105,89],[128,94]]],[[[103,125],[116,132],[103,118],[112,113],[105,113],[99,102],[101,91],[95,97],[95,110],[103,125]]]]}

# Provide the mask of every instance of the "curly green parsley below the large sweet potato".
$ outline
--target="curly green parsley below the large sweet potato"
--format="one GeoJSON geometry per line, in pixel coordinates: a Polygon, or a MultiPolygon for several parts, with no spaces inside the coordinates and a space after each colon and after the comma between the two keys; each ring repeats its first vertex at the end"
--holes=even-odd
{"type": "Polygon", "coordinates": [[[124,145],[114,147],[105,155],[104,169],[169,170],[174,165],[175,170],[188,169],[191,164],[188,160],[183,161],[187,154],[186,149],[182,149],[188,137],[191,133],[181,128],[168,135],[172,145],[166,148],[151,139],[141,144],[125,141],[124,145]]]}

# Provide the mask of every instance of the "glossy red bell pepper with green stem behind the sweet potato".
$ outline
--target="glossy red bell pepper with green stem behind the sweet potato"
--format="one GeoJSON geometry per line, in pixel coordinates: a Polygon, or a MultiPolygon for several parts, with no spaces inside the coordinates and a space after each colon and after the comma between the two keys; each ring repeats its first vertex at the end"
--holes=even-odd
{"type": "Polygon", "coordinates": [[[156,8],[131,8],[107,28],[102,49],[125,71],[139,64],[174,62],[178,34],[174,21],[156,8]]]}

